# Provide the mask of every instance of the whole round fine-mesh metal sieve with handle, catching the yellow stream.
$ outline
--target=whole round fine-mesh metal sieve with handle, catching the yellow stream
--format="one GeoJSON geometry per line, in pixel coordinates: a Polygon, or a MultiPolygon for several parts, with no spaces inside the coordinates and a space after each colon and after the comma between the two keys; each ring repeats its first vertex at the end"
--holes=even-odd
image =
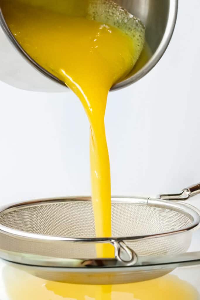
{"type": "MultiPolygon", "coordinates": [[[[198,192],[196,185],[181,194],[161,197],[181,200],[198,192]]],[[[112,237],[95,238],[90,198],[25,202],[1,210],[0,257],[55,281],[112,284],[147,280],[188,260],[198,263],[200,253],[186,252],[191,229],[199,223],[199,214],[190,205],[113,197],[112,237]],[[111,243],[115,258],[97,258],[97,243],[111,243]]]]}

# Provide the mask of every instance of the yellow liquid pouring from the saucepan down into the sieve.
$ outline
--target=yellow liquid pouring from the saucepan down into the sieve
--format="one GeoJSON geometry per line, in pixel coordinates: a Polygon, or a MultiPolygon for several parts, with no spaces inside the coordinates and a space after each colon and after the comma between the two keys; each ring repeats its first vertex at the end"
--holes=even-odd
{"type": "MultiPolygon", "coordinates": [[[[91,190],[96,236],[110,237],[110,165],[104,125],[106,100],[112,85],[126,76],[136,63],[138,45],[119,29],[86,19],[88,1],[70,5],[75,2],[61,0],[55,5],[55,1],[43,0],[31,1],[30,5],[28,0],[0,0],[7,24],[22,48],[64,81],[82,102],[91,131],[91,190]],[[38,6],[38,3],[43,5],[38,6]],[[61,13],[63,11],[65,13],[61,13]]],[[[111,245],[98,245],[98,257],[112,257],[113,254],[111,245]]]]}

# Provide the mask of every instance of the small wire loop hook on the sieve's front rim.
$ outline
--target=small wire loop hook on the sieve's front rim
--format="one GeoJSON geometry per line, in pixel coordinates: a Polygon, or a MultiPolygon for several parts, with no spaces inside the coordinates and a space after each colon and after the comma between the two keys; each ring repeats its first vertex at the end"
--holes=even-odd
{"type": "Polygon", "coordinates": [[[130,249],[124,241],[113,241],[115,247],[115,258],[124,264],[124,266],[135,265],[137,262],[136,253],[130,249]]]}

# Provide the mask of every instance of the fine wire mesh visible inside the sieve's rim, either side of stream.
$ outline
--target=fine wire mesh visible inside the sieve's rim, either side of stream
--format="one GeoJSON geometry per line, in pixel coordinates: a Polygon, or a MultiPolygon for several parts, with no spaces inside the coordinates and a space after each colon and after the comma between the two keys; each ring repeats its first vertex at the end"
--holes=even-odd
{"type": "MultiPolygon", "coordinates": [[[[147,235],[184,229],[193,220],[156,206],[112,203],[112,236],[147,235]]],[[[91,202],[66,201],[30,205],[0,216],[0,224],[24,232],[62,237],[95,237],[91,202]]]]}

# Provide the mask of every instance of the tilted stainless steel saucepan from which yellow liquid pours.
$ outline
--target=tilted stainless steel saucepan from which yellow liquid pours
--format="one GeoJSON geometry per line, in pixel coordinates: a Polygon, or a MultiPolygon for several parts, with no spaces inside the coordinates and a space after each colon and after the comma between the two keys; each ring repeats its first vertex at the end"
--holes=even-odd
{"type": "MultiPolygon", "coordinates": [[[[172,37],[178,10],[178,0],[116,0],[115,2],[140,18],[145,24],[146,41],[151,49],[151,55],[145,65],[137,66],[136,73],[133,70],[129,78],[117,83],[112,90],[136,82],[157,64],[172,37]]],[[[67,91],[63,82],[35,63],[17,43],[4,19],[1,0],[0,26],[2,28],[2,31],[0,29],[0,80],[17,88],[31,91],[67,91]]]]}

